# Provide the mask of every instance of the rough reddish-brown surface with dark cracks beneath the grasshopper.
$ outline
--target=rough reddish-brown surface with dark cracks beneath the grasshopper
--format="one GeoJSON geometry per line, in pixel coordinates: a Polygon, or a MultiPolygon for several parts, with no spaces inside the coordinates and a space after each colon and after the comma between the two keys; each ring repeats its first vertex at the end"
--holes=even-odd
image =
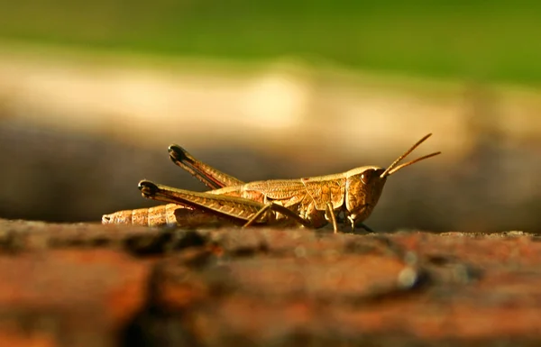
{"type": "Polygon", "coordinates": [[[0,345],[538,345],[526,233],[0,220],[0,345]]]}

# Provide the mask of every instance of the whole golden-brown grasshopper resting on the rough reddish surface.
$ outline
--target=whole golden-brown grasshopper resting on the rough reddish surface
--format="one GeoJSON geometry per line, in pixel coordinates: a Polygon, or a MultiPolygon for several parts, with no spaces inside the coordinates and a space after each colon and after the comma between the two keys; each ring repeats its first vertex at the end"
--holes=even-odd
{"type": "Polygon", "coordinates": [[[349,222],[352,229],[362,226],[371,231],[362,222],[378,203],[387,178],[399,169],[440,154],[438,151],[399,164],[430,135],[415,143],[387,169],[365,166],[315,178],[249,183],[196,160],[178,145],[171,145],[170,159],[212,190],[200,193],[142,180],[139,182],[142,196],[170,204],[104,215],[102,223],[179,224],[190,227],[205,224],[240,224],[244,227],[280,224],[309,228],[332,223],[336,233],[338,221],[341,221],[344,224],[349,222]],[[340,215],[343,215],[342,219],[340,215]]]}

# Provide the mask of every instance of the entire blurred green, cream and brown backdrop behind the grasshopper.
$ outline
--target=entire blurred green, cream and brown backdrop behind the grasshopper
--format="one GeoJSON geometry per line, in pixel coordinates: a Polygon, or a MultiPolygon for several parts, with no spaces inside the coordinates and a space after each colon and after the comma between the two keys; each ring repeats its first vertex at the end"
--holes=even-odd
{"type": "Polygon", "coordinates": [[[0,3],[0,217],[99,222],[141,178],[203,190],[388,165],[376,230],[538,231],[541,5],[503,0],[0,3]],[[408,172],[408,173],[407,173],[408,172]]]}

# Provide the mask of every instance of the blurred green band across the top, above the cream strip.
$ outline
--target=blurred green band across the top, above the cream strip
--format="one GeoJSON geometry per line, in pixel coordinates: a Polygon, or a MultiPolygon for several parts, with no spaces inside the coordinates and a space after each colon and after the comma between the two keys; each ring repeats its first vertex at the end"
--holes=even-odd
{"type": "Polygon", "coordinates": [[[504,0],[22,0],[0,3],[0,38],[536,84],[540,18],[504,0]]]}

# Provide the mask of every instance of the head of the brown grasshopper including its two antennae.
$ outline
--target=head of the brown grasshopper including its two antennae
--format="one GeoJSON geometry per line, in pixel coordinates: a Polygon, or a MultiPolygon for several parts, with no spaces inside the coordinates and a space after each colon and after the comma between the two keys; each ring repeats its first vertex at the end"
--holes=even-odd
{"type": "Polygon", "coordinates": [[[365,166],[362,168],[351,169],[345,173],[345,209],[347,218],[354,226],[355,221],[362,222],[371,215],[372,210],[380,199],[383,186],[387,178],[399,169],[406,168],[409,165],[415,164],[420,160],[434,157],[441,152],[428,154],[416,160],[410,160],[403,164],[399,164],[401,160],[406,158],[409,153],[414,151],[419,144],[426,141],[432,134],[429,133],[421,140],[417,141],[411,148],[404,152],[397,160],[390,164],[389,168],[383,169],[376,166],[365,166]]]}

